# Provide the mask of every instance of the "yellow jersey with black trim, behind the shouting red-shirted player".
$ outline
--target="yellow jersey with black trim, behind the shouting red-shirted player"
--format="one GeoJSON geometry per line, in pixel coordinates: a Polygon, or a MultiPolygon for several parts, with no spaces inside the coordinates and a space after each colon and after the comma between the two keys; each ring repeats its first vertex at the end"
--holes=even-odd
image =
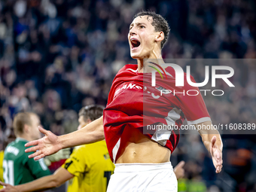
{"type": "Polygon", "coordinates": [[[114,172],[105,141],[76,148],[62,167],[75,175],[69,180],[68,192],[105,192],[114,172]]]}

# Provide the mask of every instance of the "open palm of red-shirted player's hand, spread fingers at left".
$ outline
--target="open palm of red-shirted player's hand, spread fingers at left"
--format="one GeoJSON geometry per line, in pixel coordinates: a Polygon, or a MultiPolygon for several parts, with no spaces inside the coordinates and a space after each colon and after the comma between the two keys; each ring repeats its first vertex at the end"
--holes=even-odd
{"type": "Polygon", "coordinates": [[[57,151],[62,149],[58,136],[54,135],[50,131],[44,130],[41,126],[39,126],[38,129],[41,133],[44,133],[44,137],[28,142],[25,145],[25,147],[33,146],[32,148],[27,148],[25,152],[35,152],[34,154],[29,155],[29,158],[34,157],[34,160],[40,160],[41,158],[50,154],[55,154],[57,151]]]}

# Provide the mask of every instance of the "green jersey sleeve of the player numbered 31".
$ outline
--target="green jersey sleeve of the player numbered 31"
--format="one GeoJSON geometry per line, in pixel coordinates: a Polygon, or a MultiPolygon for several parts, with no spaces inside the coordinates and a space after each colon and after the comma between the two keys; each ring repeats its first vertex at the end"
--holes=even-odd
{"type": "MultiPolygon", "coordinates": [[[[32,154],[32,153],[31,153],[32,154]]],[[[50,170],[44,163],[44,159],[34,160],[33,158],[29,159],[29,154],[24,155],[24,166],[29,167],[29,170],[32,172],[32,175],[35,178],[41,178],[47,175],[50,175],[50,170]]]]}

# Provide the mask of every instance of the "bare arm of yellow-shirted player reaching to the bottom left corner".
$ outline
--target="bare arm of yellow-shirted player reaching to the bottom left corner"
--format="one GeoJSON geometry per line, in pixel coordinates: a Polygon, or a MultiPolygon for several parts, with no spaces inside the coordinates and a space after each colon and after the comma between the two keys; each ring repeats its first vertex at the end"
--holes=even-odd
{"type": "MultiPolygon", "coordinates": [[[[26,176],[26,175],[24,175],[26,176]]],[[[0,192],[29,192],[29,191],[38,191],[38,190],[48,190],[53,187],[58,187],[60,184],[68,181],[70,178],[73,178],[70,172],[66,169],[59,167],[53,175],[48,175],[42,178],[38,178],[35,181],[31,181],[26,184],[20,184],[13,186],[11,184],[5,184],[0,181],[0,184],[5,186],[0,192]]]]}

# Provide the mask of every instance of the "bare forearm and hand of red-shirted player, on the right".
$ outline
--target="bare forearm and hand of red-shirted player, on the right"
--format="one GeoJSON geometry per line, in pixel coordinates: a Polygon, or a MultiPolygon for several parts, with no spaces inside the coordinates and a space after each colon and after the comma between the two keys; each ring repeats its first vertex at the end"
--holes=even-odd
{"type": "Polygon", "coordinates": [[[222,140],[220,133],[218,130],[212,128],[212,122],[206,121],[203,123],[198,123],[195,125],[197,127],[197,131],[200,133],[202,137],[203,144],[206,146],[207,150],[212,155],[212,162],[215,166],[216,173],[221,172],[222,168],[222,140]],[[206,129],[208,127],[208,129],[206,129]],[[211,127],[211,129],[209,129],[211,127]]]}

